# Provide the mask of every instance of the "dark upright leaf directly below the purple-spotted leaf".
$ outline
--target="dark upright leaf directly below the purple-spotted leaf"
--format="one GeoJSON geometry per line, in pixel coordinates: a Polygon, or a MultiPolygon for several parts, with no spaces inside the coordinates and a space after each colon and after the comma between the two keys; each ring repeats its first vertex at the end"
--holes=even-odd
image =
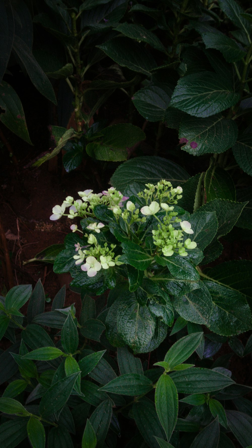
{"type": "Polygon", "coordinates": [[[235,185],[230,174],[213,162],[205,174],[204,189],[207,202],[221,198],[235,201],[235,185]]]}

